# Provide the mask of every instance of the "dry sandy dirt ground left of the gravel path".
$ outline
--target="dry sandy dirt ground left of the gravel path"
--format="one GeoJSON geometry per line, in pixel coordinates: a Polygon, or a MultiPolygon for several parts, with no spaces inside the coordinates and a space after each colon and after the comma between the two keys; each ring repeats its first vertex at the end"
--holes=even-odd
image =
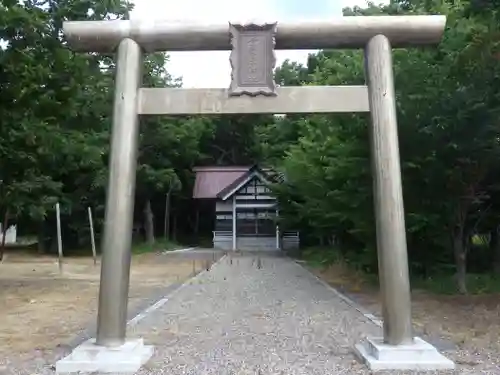
{"type": "MultiPolygon", "coordinates": [[[[206,261],[161,254],[132,260],[129,308],[154,287],[185,281],[206,261]]],[[[50,350],[68,344],[96,317],[100,262],[91,257],[57,258],[9,253],[0,263],[0,358],[50,350]]]]}

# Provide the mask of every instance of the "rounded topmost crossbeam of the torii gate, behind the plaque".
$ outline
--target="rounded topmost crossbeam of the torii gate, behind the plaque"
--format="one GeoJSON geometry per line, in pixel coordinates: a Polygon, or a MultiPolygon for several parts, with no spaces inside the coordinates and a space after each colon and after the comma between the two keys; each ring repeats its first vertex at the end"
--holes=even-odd
{"type": "MultiPolygon", "coordinates": [[[[359,16],[322,21],[278,22],[276,49],[363,48],[383,34],[393,47],[439,43],[446,16],[359,16]]],[[[146,52],[230,50],[228,23],[172,21],[67,21],[64,34],[76,51],[112,52],[122,39],[146,52]]]]}

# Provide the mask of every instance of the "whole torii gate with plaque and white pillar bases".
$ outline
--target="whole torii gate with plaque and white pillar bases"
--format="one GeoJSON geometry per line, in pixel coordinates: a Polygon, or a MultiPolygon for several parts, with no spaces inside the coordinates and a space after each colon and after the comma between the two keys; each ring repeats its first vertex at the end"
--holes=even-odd
{"type": "MultiPolygon", "coordinates": [[[[59,361],[58,373],[134,372],[152,355],[126,340],[139,115],[370,112],[375,222],[384,337],[357,353],[373,369],[445,369],[454,364],[413,337],[392,48],[437,44],[445,16],[344,17],[321,22],[199,24],[75,21],[63,29],[77,51],[117,51],[97,338],[59,361]],[[274,48],[364,48],[366,86],[276,87],[274,48]],[[229,50],[225,89],[142,88],[144,53],[229,50]]],[[[209,74],[209,72],[207,72],[209,74]]]]}

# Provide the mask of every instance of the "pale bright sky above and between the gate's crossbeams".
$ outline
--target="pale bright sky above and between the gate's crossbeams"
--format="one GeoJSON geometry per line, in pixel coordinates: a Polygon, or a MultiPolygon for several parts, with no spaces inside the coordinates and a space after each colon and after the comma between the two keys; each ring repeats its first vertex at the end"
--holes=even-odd
{"type": "MultiPolygon", "coordinates": [[[[317,20],[342,16],[346,6],[366,4],[364,0],[133,0],[132,19],[267,22],[317,20]]],[[[277,51],[276,65],[289,59],[305,63],[314,51],[277,51]]],[[[167,71],[182,77],[186,88],[227,88],[230,82],[229,51],[172,52],[167,71]]]]}

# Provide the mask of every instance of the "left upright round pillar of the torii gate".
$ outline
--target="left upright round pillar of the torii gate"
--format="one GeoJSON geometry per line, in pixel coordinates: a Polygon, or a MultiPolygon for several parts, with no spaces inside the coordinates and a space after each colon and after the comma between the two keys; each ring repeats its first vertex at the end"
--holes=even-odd
{"type": "Polygon", "coordinates": [[[122,345],[126,335],[141,68],[140,46],[131,39],[123,39],[118,45],[97,315],[96,343],[107,347],[122,345]]]}

